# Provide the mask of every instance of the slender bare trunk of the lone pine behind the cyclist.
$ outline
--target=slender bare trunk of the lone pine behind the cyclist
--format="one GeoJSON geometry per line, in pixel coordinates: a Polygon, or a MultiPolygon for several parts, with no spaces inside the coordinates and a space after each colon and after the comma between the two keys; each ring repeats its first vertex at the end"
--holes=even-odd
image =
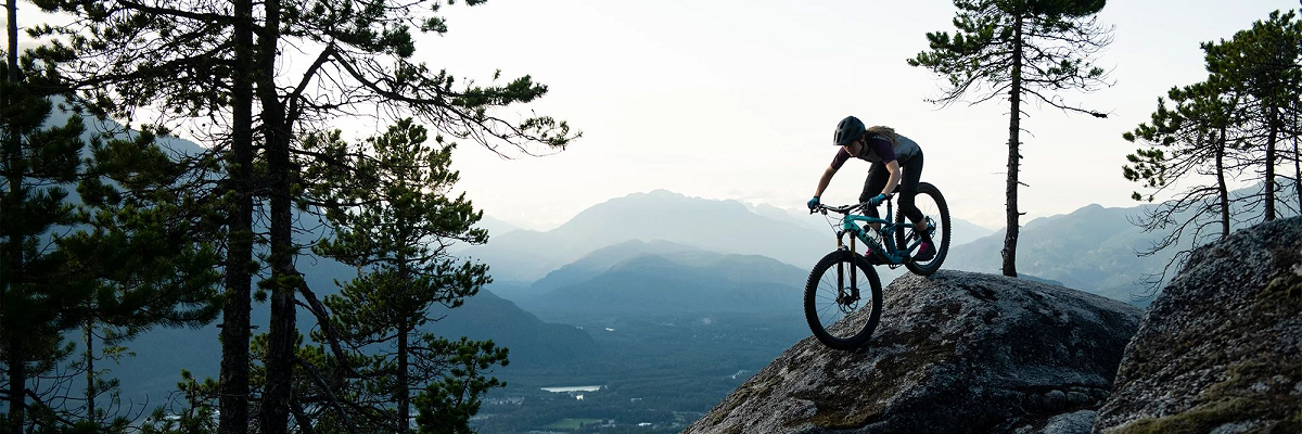
{"type": "Polygon", "coordinates": [[[1005,185],[1006,195],[1006,225],[1008,229],[1004,232],[1004,275],[1009,278],[1017,276],[1017,235],[1019,225],[1018,212],[1017,212],[1017,169],[1022,155],[1018,151],[1021,145],[1021,120],[1022,120],[1022,17],[1017,18],[1016,27],[1013,29],[1013,86],[1008,91],[1009,99],[1009,120],[1008,120],[1008,184],[1005,185]]]}

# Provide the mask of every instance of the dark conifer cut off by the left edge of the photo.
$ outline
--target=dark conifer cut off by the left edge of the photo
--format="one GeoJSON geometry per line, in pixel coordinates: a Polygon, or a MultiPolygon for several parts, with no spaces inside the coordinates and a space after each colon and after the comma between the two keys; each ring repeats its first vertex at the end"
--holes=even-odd
{"type": "Polygon", "coordinates": [[[27,424],[29,379],[72,352],[61,332],[77,319],[64,306],[89,296],[61,279],[69,259],[51,237],[76,223],[65,186],[77,181],[85,124],[72,116],[46,128],[53,107],[49,82],[14,73],[18,68],[0,65],[7,77],[0,81],[0,357],[8,386],[0,394],[9,409],[4,430],[12,434],[23,433],[27,424]]]}

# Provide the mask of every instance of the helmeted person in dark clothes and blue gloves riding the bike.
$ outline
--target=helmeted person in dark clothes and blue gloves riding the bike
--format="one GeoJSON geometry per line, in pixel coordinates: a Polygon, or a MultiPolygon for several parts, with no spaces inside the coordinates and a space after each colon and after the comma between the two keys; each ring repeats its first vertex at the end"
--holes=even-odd
{"type": "MultiPolygon", "coordinates": [[[[913,222],[915,228],[926,228],[922,211],[913,203],[913,197],[918,194],[918,180],[922,177],[922,147],[907,137],[900,136],[889,126],[865,128],[863,121],[854,116],[846,116],[836,125],[833,143],[840,146],[832,164],[823,171],[823,177],[818,181],[814,198],[809,201],[810,212],[818,209],[819,197],[832,182],[832,176],[846,160],[859,158],[872,163],[868,168],[868,177],[863,181],[863,193],[859,194],[861,203],[868,203],[865,214],[878,218],[878,205],[887,199],[887,194],[897,192],[900,194],[900,212],[913,222]]],[[[876,228],[876,225],[874,225],[876,228]]],[[[917,231],[922,236],[922,245],[914,261],[930,261],[936,257],[936,249],[931,241],[931,233],[917,231]]],[[[876,255],[868,255],[870,261],[881,262],[876,255]]],[[[880,265],[880,263],[879,263],[880,265]]]]}

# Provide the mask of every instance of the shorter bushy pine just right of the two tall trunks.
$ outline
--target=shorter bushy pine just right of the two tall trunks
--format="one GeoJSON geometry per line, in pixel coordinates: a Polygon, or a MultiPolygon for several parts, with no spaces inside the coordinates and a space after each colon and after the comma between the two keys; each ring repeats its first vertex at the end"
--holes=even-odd
{"type": "MultiPolygon", "coordinates": [[[[310,142],[320,143],[323,154],[341,155],[346,147],[332,137],[337,134],[310,142]]],[[[314,173],[332,179],[314,182],[318,197],[357,203],[331,209],[327,218],[336,235],[315,250],[362,272],[340,295],[327,297],[326,305],[350,347],[380,354],[381,370],[392,369],[397,412],[388,426],[395,431],[408,430],[410,391],[452,375],[443,368],[448,361],[465,352],[482,352],[480,358],[490,365],[506,361],[506,351],[491,341],[453,343],[422,332],[434,304],[460,306],[490,282],[487,266],[458,261],[447,252],[453,242],[483,244],[487,233],[473,228],[482,212],[465,194],[448,197],[460,177],[449,168],[454,145],[443,137],[435,138],[436,147],[426,141],[423,126],[402,120],[361,147],[363,152],[348,164],[357,172],[322,166],[314,173]],[[387,349],[391,345],[392,352],[387,349]]],[[[487,366],[458,371],[462,374],[456,378],[466,379],[483,369],[487,366]]]]}

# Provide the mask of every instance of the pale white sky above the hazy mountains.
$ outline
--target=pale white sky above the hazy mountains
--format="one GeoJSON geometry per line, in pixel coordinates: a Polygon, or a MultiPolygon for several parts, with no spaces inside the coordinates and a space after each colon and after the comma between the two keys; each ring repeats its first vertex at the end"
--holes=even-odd
{"type": "MultiPolygon", "coordinates": [[[[22,7],[20,26],[39,22],[27,13],[35,8],[22,7]]],[[[1100,21],[1116,27],[1115,42],[1095,64],[1116,85],[1062,96],[1111,117],[1023,106],[1022,223],[1090,203],[1137,205],[1135,185],[1121,177],[1135,146],[1121,133],[1147,121],[1172,86],[1206,78],[1200,42],[1297,8],[1293,0],[1109,1],[1100,21]]],[[[927,31],[953,31],[950,1],[492,0],[444,10],[449,33],[418,36],[421,60],[480,82],[497,69],[504,78],[530,74],[549,93],[513,111],[583,132],[544,158],[504,160],[461,143],[458,189],[497,219],[548,229],[655,189],[798,211],[836,151],[836,123],[854,115],[922,146],[922,177],[944,192],[952,215],[1004,225],[1008,103],[927,103],[941,78],[905,63],[927,48],[927,31]]],[[[375,132],[355,129],[345,136],[375,132]]],[[[823,201],[855,201],[867,169],[848,163],[823,201]]]]}

